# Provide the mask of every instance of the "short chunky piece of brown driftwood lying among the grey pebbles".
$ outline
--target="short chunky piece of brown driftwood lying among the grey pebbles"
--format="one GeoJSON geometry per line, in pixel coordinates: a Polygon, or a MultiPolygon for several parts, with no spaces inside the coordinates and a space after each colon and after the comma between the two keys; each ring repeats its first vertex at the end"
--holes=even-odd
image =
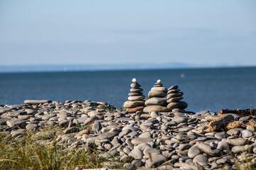
{"type": "Polygon", "coordinates": [[[208,128],[210,128],[211,132],[225,130],[226,125],[233,120],[233,115],[222,115],[220,118],[210,121],[208,128]]]}

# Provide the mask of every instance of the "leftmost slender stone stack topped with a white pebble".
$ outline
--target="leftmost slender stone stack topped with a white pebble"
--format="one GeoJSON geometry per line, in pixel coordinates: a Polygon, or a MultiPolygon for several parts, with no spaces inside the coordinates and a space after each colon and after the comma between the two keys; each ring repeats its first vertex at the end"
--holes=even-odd
{"type": "Polygon", "coordinates": [[[137,80],[135,78],[132,79],[132,89],[130,89],[131,92],[128,94],[129,101],[124,102],[124,108],[126,108],[129,113],[136,113],[137,111],[142,111],[145,107],[145,96],[142,94],[143,89],[140,89],[140,86],[141,85],[137,83],[137,80]]]}

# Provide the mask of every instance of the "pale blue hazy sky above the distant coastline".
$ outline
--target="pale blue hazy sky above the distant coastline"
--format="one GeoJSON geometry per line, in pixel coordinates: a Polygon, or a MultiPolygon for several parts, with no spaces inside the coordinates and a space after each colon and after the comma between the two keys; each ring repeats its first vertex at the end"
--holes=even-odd
{"type": "Polygon", "coordinates": [[[256,65],[256,1],[0,1],[0,64],[256,65]]]}

